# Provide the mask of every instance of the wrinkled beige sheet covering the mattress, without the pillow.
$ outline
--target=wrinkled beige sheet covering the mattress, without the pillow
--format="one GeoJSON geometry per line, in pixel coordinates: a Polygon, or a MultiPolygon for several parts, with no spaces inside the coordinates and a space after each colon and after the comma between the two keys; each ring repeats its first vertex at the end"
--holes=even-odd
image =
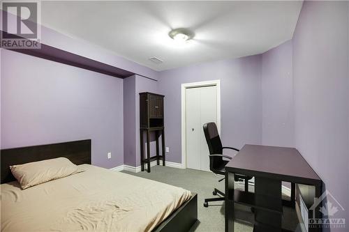
{"type": "Polygon", "coordinates": [[[21,190],[1,185],[1,231],[151,231],[191,192],[94,167],[21,190]]]}

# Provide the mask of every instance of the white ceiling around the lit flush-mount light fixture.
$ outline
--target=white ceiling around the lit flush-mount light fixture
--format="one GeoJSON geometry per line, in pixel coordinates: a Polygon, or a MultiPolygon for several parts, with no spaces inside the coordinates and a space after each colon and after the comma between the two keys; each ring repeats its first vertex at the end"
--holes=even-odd
{"type": "Polygon", "coordinates": [[[42,1],[43,25],[154,70],[262,52],[292,38],[302,1],[42,1]],[[168,32],[194,31],[177,45],[168,32]],[[156,56],[163,63],[149,61],[156,56]]]}

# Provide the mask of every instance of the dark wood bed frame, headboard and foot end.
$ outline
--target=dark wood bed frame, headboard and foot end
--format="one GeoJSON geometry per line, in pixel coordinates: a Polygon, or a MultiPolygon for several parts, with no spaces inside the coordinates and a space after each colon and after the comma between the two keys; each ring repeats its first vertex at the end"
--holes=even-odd
{"type": "MultiPolygon", "coordinates": [[[[91,164],[91,139],[68,141],[59,144],[27,146],[3,149],[1,156],[1,184],[14,181],[10,165],[25,164],[40,160],[66,157],[76,165],[91,164]]],[[[186,232],[198,221],[198,195],[193,193],[191,199],[172,212],[154,232],[186,232]]]]}

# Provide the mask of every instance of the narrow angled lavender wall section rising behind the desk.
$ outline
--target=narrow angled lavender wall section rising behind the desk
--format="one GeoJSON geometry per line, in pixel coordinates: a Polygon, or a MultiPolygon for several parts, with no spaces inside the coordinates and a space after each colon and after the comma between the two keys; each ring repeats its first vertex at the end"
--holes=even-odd
{"type": "Polygon", "coordinates": [[[262,54],[262,144],[294,146],[292,41],[262,54]]]}

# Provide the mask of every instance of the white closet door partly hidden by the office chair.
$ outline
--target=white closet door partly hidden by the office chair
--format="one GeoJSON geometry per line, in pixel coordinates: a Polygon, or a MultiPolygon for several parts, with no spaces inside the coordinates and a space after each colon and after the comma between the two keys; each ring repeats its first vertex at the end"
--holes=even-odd
{"type": "Polygon", "coordinates": [[[186,167],[209,171],[209,149],[202,125],[217,123],[217,87],[186,88],[186,167]]]}

